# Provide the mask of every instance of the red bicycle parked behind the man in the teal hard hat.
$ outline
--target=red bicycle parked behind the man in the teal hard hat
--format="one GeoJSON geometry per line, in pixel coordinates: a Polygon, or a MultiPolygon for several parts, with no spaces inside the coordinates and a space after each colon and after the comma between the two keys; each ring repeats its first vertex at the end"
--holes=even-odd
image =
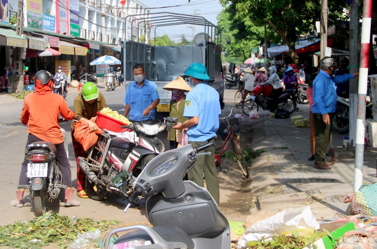
{"type": "Polygon", "coordinates": [[[230,148],[234,153],[234,157],[236,157],[237,163],[239,167],[241,168],[242,174],[244,174],[244,176],[248,178],[249,169],[248,169],[245,157],[244,157],[244,152],[242,151],[241,145],[238,141],[239,139],[238,119],[234,119],[235,122],[230,122],[228,119],[232,115],[233,108],[235,106],[236,105],[233,105],[230,111],[230,114],[228,116],[219,118],[221,120],[224,120],[223,122],[226,125],[226,127],[224,127],[224,129],[219,128],[219,131],[218,131],[218,133],[220,133],[220,136],[224,140],[224,143],[220,147],[216,148],[215,164],[216,164],[216,167],[219,167],[221,170],[221,167],[220,167],[221,156],[225,152],[225,150],[227,150],[228,145],[230,144],[230,148]]]}

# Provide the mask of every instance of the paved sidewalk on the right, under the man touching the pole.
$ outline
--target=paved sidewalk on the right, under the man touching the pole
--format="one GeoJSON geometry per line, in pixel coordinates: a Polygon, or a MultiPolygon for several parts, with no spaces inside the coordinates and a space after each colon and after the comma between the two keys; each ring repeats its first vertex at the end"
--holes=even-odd
{"type": "MultiPolygon", "coordinates": [[[[309,105],[298,105],[293,115],[309,117],[309,105]]],[[[270,211],[282,211],[310,205],[314,214],[332,216],[345,213],[348,204],[343,198],[353,192],[354,153],[342,148],[343,136],[333,132],[333,143],[339,162],[331,170],[314,168],[310,157],[309,127],[296,128],[290,119],[270,118],[259,111],[253,124],[253,149],[265,153],[254,160],[251,168],[252,190],[258,197],[257,206],[270,211]]],[[[377,153],[368,147],[364,154],[363,182],[374,183],[377,153]]],[[[330,157],[327,158],[330,161],[330,157]]]]}

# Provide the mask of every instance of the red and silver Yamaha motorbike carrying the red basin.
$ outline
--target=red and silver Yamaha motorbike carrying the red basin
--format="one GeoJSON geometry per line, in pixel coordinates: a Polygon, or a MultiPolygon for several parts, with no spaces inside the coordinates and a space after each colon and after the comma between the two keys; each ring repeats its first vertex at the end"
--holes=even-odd
{"type": "Polygon", "coordinates": [[[165,151],[164,143],[156,134],[169,130],[176,122],[177,118],[167,117],[164,122],[147,120],[127,125],[138,135],[138,142],[102,133],[97,144],[89,148],[88,157],[78,157],[79,167],[86,174],[88,196],[101,200],[112,191],[128,196],[132,192],[133,181],[118,188],[112,179],[122,172],[138,176],[150,160],[165,151]]]}

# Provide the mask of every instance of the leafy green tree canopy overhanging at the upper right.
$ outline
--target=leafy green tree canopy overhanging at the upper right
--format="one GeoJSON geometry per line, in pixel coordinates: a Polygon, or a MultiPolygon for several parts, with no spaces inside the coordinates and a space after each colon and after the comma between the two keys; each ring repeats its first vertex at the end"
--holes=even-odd
{"type": "MultiPolygon", "coordinates": [[[[320,0],[220,0],[231,14],[231,29],[238,29],[242,37],[255,34],[256,27],[268,27],[271,43],[284,43],[289,55],[297,59],[295,43],[302,35],[313,34],[315,22],[320,20],[320,0]]],[[[329,19],[339,20],[346,1],[328,1],[329,19]]]]}

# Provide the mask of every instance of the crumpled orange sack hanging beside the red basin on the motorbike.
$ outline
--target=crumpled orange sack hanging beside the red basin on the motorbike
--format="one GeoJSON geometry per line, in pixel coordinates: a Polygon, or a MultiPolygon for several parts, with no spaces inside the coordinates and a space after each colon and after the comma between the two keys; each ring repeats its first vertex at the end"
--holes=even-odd
{"type": "Polygon", "coordinates": [[[84,151],[87,151],[90,147],[95,145],[98,140],[98,135],[104,132],[101,129],[91,131],[89,125],[82,121],[76,122],[74,127],[75,131],[73,136],[77,142],[83,145],[84,151]]]}

